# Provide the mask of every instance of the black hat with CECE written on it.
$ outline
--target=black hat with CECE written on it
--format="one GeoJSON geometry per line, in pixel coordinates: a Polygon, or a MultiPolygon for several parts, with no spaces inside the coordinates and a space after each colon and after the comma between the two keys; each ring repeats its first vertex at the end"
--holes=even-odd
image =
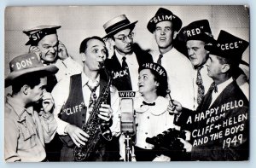
{"type": "Polygon", "coordinates": [[[243,63],[244,61],[241,61],[241,56],[248,45],[247,41],[221,30],[218,34],[218,39],[208,43],[205,49],[210,51],[212,55],[232,57],[232,60],[243,63]]]}

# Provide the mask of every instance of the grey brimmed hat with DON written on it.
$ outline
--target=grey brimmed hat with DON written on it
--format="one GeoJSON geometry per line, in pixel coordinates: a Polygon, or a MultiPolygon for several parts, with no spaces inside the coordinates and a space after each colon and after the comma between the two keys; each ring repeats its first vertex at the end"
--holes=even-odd
{"type": "Polygon", "coordinates": [[[34,53],[28,53],[15,57],[9,62],[9,68],[10,73],[5,78],[5,87],[8,87],[15,78],[29,72],[42,71],[55,73],[59,70],[54,65],[44,66],[43,63],[38,60],[38,56],[34,53]]]}

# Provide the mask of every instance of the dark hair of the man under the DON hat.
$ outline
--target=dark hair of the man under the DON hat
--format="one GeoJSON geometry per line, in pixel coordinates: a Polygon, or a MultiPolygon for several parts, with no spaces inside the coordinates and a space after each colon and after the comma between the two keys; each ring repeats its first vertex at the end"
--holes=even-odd
{"type": "Polygon", "coordinates": [[[17,94],[20,89],[27,84],[31,89],[33,89],[36,85],[40,84],[40,78],[48,77],[49,72],[29,72],[21,75],[18,78],[15,78],[12,81],[12,90],[13,94],[17,94]]]}

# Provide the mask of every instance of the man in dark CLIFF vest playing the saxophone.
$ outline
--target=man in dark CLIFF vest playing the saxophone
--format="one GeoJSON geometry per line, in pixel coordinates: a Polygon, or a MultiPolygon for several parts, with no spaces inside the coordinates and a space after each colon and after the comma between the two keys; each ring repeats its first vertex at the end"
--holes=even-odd
{"type": "MultiPolygon", "coordinates": [[[[80,56],[83,61],[84,72],[73,75],[56,84],[52,95],[55,100],[55,119],[58,123],[57,133],[61,136],[63,147],[61,148],[61,161],[75,160],[74,148],[83,147],[89,141],[90,136],[82,127],[85,125],[94,111],[97,98],[107,84],[106,75],[102,72],[101,63],[105,61],[108,50],[102,38],[85,38],[80,44],[80,56]]],[[[106,97],[106,104],[99,107],[98,118],[108,126],[111,126],[113,136],[119,134],[119,96],[112,86],[110,94],[106,97]],[[111,105],[111,106],[110,106],[111,105]]],[[[94,131],[94,130],[93,130],[94,131]]],[[[106,151],[106,144],[99,140],[97,147],[90,154],[88,161],[104,161],[111,156],[106,151]]],[[[79,160],[81,161],[81,160],[79,160]]]]}

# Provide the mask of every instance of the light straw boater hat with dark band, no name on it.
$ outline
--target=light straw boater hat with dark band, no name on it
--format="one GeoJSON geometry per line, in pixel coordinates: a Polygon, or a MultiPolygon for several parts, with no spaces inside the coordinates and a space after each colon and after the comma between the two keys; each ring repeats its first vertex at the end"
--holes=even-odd
{"type": "Polygon", "coordinates": [[[107,35],[103,38],[108,38],[109,36],[112,36],[114,33],[120,32],[125,28],[131,28],[131,30],[133,30],[136,23],[137,21],[131,23],[130,20],[128,20],[125,16],[125,14],[116,16],[112,20],[109,20],[107,23],[103,25],[103,28],[107,33],[107,35]]]}

